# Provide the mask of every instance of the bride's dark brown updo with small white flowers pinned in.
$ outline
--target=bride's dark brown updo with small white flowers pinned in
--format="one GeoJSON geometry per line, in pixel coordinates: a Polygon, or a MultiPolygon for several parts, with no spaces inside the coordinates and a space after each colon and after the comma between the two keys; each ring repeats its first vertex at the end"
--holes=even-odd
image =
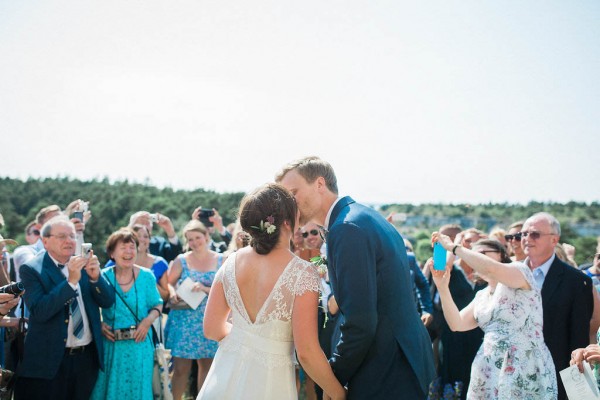
{"type": "Polygon", "coordinates": [[[298,207],[294,196],[277,183],[268,183],[247,194],[240,204],[240,223],[258,254],[269,254],[279,242],[281,226],[288,221],[294,231],[298,207]]]}

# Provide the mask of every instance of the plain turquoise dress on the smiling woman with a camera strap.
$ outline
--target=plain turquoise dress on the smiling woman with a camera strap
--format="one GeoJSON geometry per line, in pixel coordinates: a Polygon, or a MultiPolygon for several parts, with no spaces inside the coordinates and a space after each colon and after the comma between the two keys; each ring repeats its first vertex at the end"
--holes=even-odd
{"type": "MultiPolygon", "coordinates": [[[[113,329],[136,325],[136,319],[123,301],[137,313],[139,320],[144,319],[152,307],[162,304],[156,289],[156,278],[149,269],[140,268],[134,285],[126,293],[116,283],[114,268],[107,268],[102,273],[118,293],[115,304],[102,309],[102,320],[113,329]]],[[[135,340],[111,342],[104,339],[104,371],[98,374],[91,398],[152,400],[153,366],[152,329],[148,330],[146,340],[141,343],[136,343],[135,340]]]]}

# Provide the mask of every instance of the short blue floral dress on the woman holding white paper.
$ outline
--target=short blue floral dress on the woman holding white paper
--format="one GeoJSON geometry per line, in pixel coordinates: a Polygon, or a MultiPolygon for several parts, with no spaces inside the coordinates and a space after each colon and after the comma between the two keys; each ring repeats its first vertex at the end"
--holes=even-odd
{"type": "MultiPolygon", "coordinates": [[[[178,284],[188,276],[194,282],[200,282],[205,286],[212,286],[217,271],[200,272],[190,270],[185,255],[179,256],[181,262],[181,276],[178,284]]],[[[217,269],[221,266],[223,256],[219,254],[217,269]]],[[[199,360],[201,358],[213,358],[217,352],[218,343],[204,337],[202,321],[208,297],[195,310],[171,310],[167,325],[165,326],[165,337],[167,349],[171,349],[173,357],[188,360],[199,360]]]]}

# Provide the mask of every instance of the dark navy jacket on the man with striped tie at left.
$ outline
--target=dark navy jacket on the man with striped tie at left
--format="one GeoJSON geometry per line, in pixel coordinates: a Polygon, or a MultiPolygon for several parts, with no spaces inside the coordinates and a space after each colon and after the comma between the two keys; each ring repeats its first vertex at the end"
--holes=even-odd
{"type": "MultiPolygon", "coordinates": [[[[47,252],[42,252],[21,266],[25,286],[25,304],[29,309],[29,329],[19,374],[29,378],[53,379],[65,354],[69,322],[69,300],[77,292],[67,282],[47,252]]],[[[104,368],[104,351],[99,307],[110,307],[115,291],[102,275],[90,283],[85,270],[79,281],[85,312],[98,352],[98,367],[104,368]]]]}

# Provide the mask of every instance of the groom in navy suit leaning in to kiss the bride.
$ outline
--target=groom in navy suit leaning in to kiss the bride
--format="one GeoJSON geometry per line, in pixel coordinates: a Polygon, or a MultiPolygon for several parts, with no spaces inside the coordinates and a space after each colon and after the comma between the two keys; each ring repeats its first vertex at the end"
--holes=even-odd
{"type": "Polygon", "coordinates": [[[300,225],[323,226],[329,278],[345,318],[329,362],[348,398],[425,399],[433,353],[402,237],[373,209],[339,198],[333,168],[318,157],[284,166],[275,180],[294,194],[300,225]]]}

